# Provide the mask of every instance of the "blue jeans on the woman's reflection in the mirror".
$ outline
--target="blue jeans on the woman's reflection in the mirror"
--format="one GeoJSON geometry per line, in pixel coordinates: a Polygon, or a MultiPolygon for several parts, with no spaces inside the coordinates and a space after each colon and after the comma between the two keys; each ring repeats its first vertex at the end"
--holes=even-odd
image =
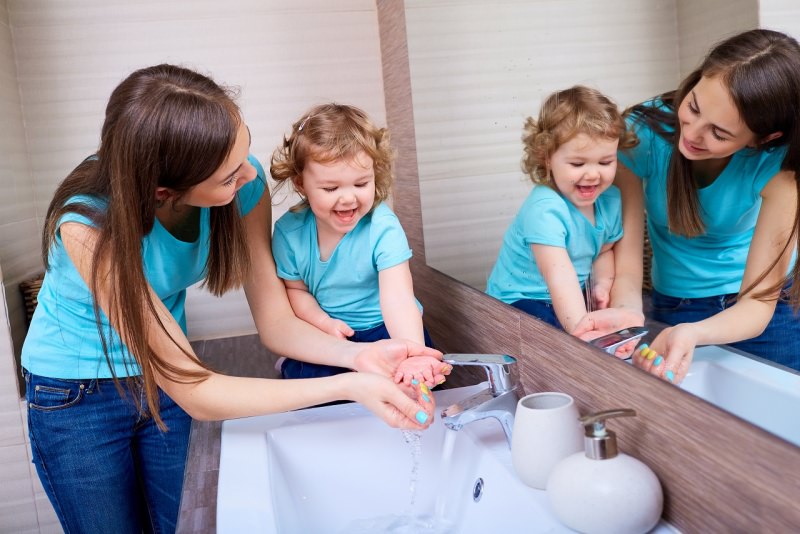
{"type": "MultiPolygon", "coordinates": [[[[784,290],[772,319],[760,336],[731,343],[730,346],[800,371],[800,316],[795,315],[787,297],[787,291],[784,290]]],[[[711,317],[732,306],[736,295],[684,299],[670,297],[654,289],[651,298],[652,319],[676,325],[711,317]]]]}

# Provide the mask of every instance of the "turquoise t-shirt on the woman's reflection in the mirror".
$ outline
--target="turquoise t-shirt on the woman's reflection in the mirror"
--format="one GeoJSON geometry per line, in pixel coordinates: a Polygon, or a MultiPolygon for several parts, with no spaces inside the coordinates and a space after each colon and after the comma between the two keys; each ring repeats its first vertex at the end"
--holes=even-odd
{"type": "MultiPolygon", "coordinates": [[[[651,102],[653,106],[663,106],[651,102]]],[[[780,171],[785,147],[744,148],[710,185],[698,189],[703,235],[686,238],[667,225],[667,169],[672,144],[634,117],[628,124],[639,144],[619,152],[619,161],[642,180],[647,231],[653,248],[653,287],[672,297],[703,298],[738,293],[761,209],[761,191],[780,171]]]]}

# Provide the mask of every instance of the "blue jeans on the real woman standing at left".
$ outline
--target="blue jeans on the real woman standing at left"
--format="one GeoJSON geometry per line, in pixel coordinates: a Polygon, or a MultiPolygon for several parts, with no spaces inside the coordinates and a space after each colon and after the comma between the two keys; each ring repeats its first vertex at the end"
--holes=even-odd
{"type": "Polygon", "coordinates": [[[174,532],[186,412],[159,390],[162,432],[136,411],[124,382],[126,398],[111,379],[23,374],[33,463],[64,532],[174,532]]]}

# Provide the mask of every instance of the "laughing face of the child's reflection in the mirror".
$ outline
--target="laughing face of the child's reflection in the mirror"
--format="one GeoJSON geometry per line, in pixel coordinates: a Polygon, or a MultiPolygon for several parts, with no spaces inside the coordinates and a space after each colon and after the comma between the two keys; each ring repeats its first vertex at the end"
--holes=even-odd
{"type": "MultiPolygon", "coordinates": [[[[548,161],[556,189],[578,209],[593,209],[617,172],[619,139],[580,133],[562,144],[548,161]]],[[[592,211],[593,213],[593,211],[592,211]]]]}

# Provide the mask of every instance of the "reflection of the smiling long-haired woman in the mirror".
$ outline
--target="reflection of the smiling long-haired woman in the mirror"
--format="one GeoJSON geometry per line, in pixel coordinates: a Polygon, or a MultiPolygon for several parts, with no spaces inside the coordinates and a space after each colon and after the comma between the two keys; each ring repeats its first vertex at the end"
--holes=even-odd
{"type": "MultiPolygon", "coordinates": [[[[641,265],[646,210],[652,317],[674,325],[635,352],[638,366],[677,383],[697,345],[731,344],[800,370],[798,109],[800,46],[758,29],[721,42],[676,91],[629,111],[641,144],[620,153],[617,265],[641,265]]],[[[641,281],[640,268],[632,276],[641,281]]],[[[594,313],[581,331],[627,326],[620,314],[636,300],[641,310],[637,285],[617,284],[618,316],[594,313]]]]}

